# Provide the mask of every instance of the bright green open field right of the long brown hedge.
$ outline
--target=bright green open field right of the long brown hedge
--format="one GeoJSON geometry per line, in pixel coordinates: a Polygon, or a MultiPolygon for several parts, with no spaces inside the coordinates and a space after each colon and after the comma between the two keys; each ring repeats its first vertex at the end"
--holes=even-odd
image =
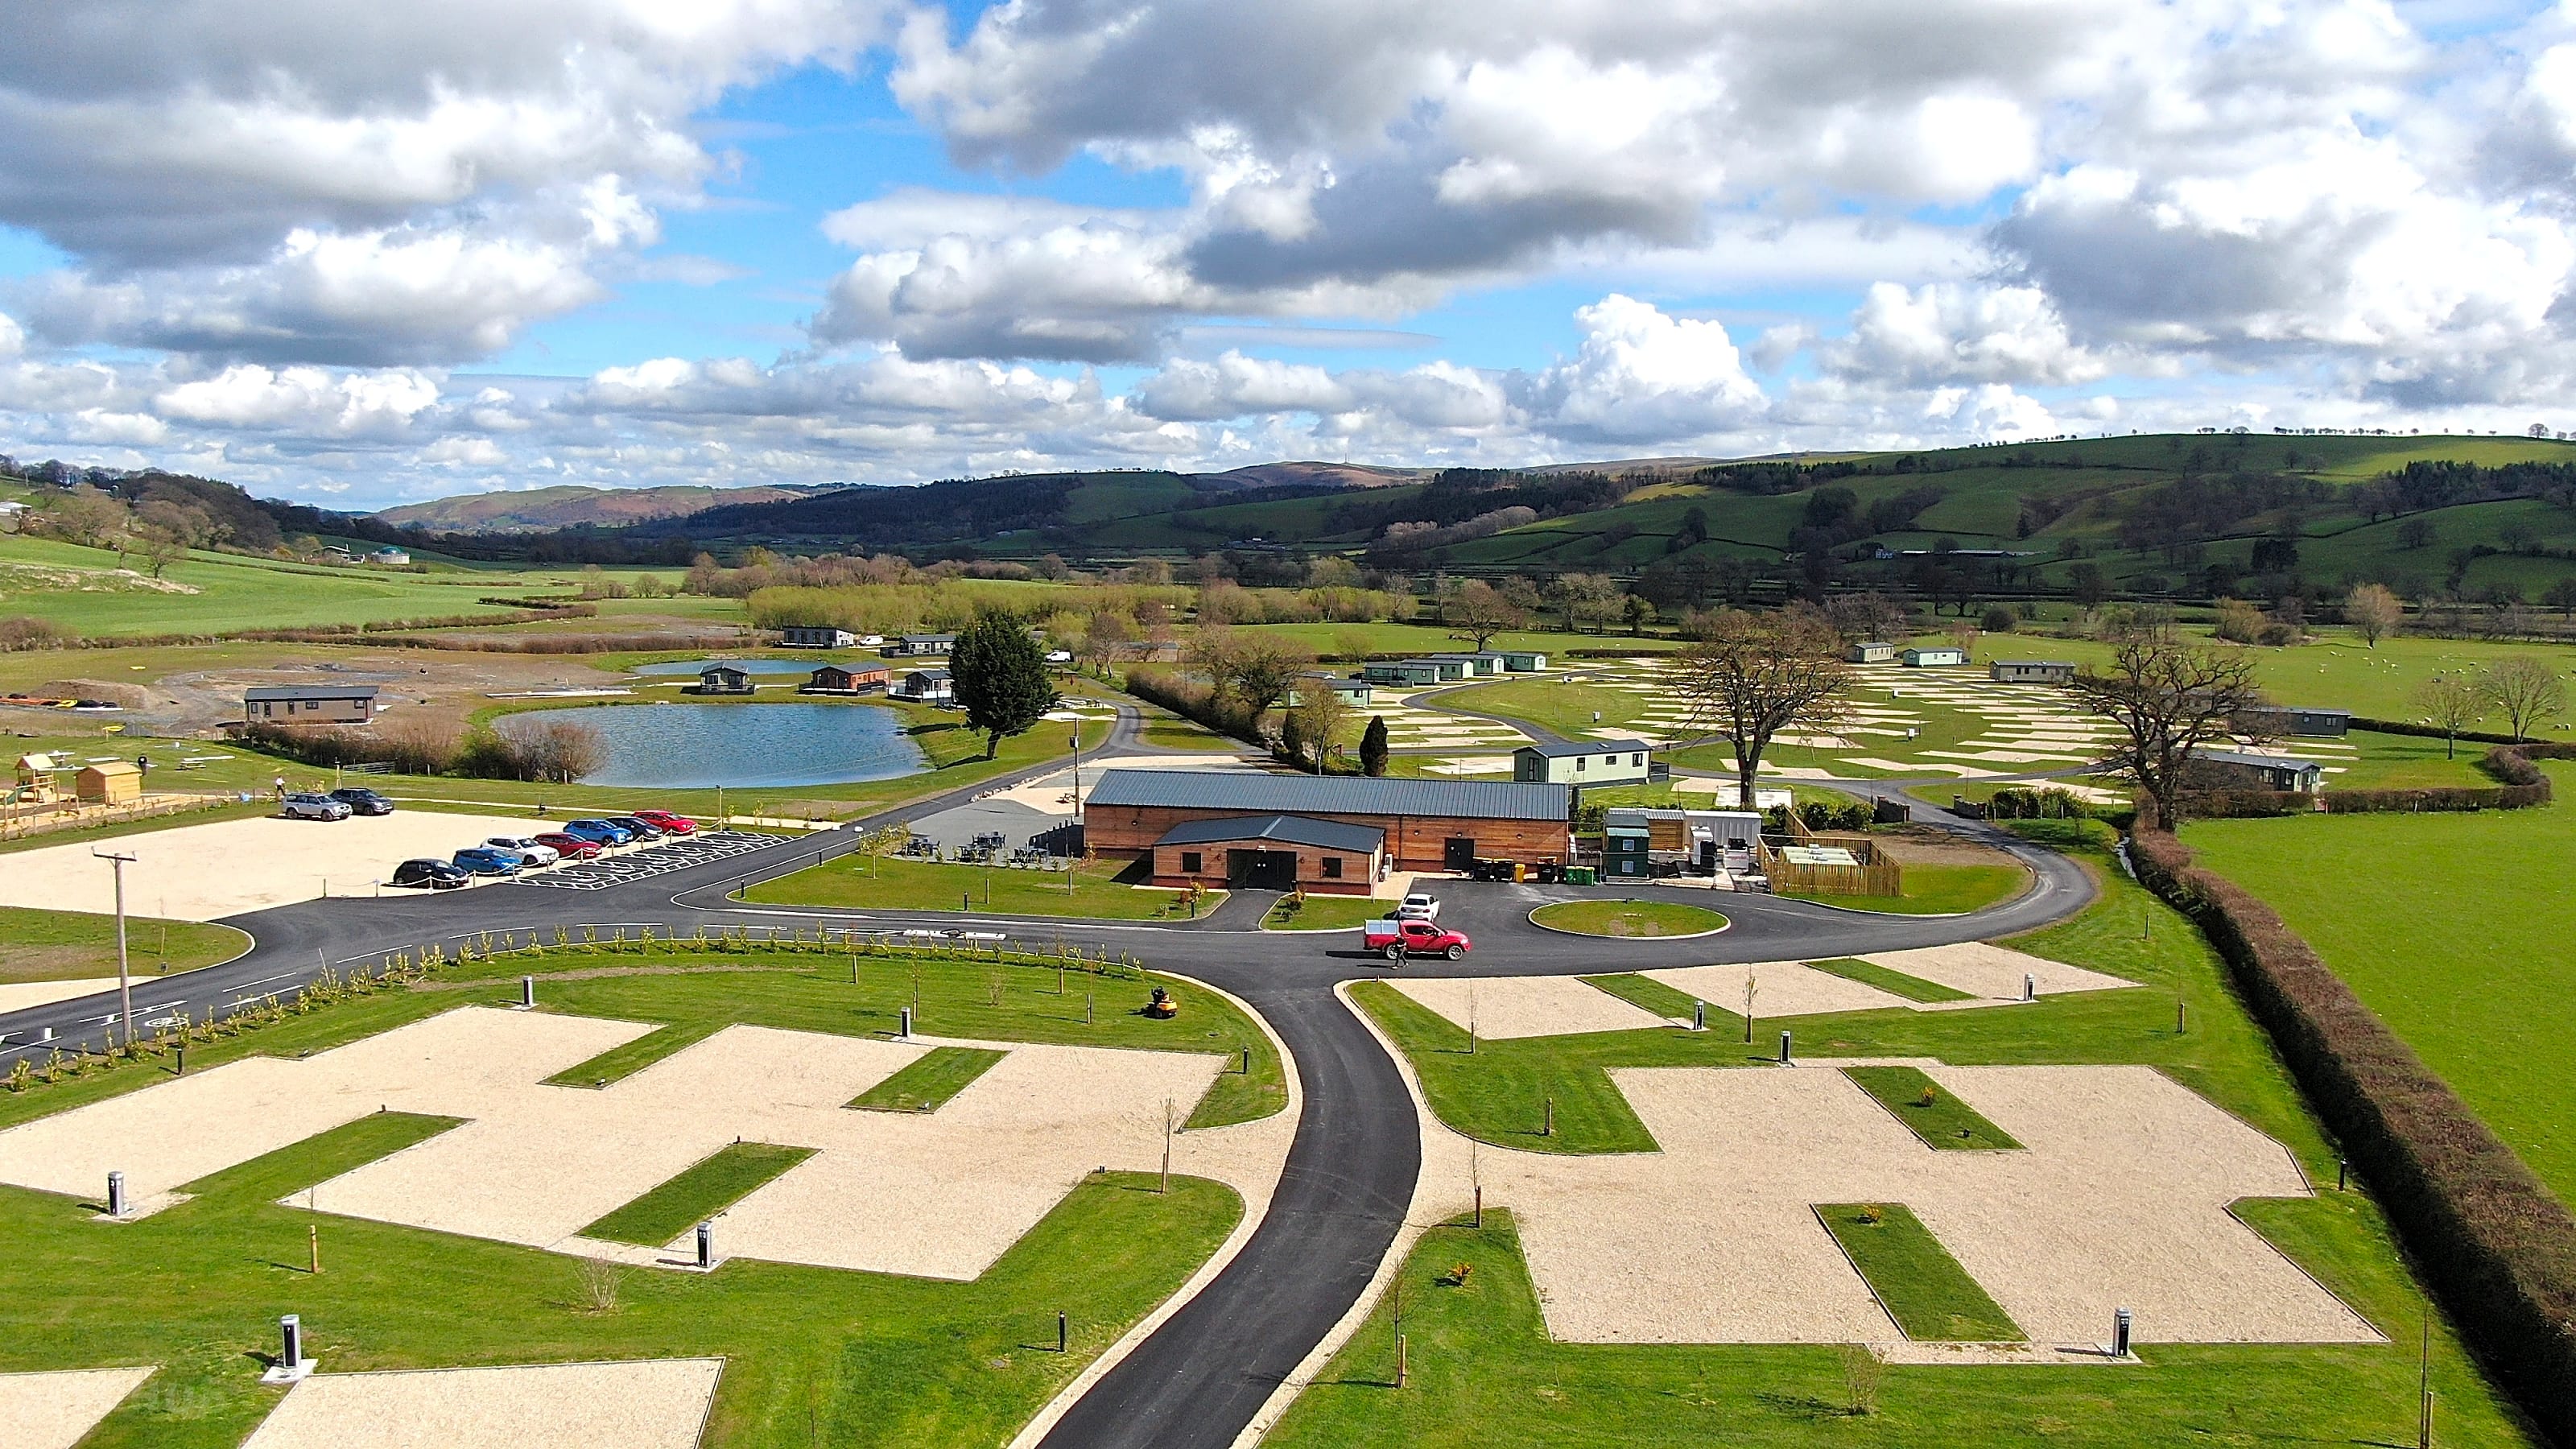
{"type": "MultiPolygon", "coordinates": [[[[2576,766],[2545,763],[2561,799],[2576,766]]],[[[2576,807],[2202,820],[2184,843],[2342,975],[2561,1196],[2576,1201],[2576,807]]]]}

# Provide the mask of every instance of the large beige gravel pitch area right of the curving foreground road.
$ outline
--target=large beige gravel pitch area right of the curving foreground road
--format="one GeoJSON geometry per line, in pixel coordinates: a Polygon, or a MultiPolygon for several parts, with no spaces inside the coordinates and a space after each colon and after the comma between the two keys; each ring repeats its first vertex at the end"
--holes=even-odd
{"type": "Polygon", "coordinates": [[[2308,1196],[2269,1137],[2151,1067],[1924,1067],[2022,1142],[1935,1150],[1834,1067],[1613,1070],[1659,1152],[1484,1152],[1548,1333],[1574,1343],[1901,1343],[1816,1204],[1899,1201],[2038,1346],[2380,1336],[2239,1222],[2308,1196]]]}

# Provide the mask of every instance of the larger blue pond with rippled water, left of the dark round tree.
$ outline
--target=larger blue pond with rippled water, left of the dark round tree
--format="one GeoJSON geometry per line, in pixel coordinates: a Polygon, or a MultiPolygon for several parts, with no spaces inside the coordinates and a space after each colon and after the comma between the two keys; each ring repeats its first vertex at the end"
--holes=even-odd
{"type": "Polygon", "coordinates": [[[891,709],[866,704],[595,704],[502,717],[518,735],[587,724],[608,763],[582,784],[639,789],[781,789],[894,779],[925,766],[891,709]]]}

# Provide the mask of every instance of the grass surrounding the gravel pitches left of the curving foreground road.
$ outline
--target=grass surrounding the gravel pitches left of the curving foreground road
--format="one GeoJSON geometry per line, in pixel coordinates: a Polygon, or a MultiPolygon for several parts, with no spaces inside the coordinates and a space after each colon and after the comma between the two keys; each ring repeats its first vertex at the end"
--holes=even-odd
{"type": "MultiPolygon", "coordinates": [[[[613,959],[580,946],[507,957],[482,967],[495,977],[487,985],[379,990],[191,1047],[188,1065],[325,1049],[502,998],[500,977],[616,969],[613,959]]],[[[729,964],[744,969],[549,980],[541,990],[551,1011],[840,1034],[884,1031],[912,993],[909,964],[886,959],[860,962],[860,987],[832,975],[842,969],[832,957],[750,949],[729,964]]],[[[1144,998],[1141,980],[1074,977],[1072,995],[1059,998],[1054,972],[1010,967],[1002,1006],[989,1006],[989,964],[920,962],[920,972],[930,1031],[1211,1052],[1244,1042],[1257,1047],[1255,1075],[1218,1078],[1200,1116],[1213,1106],[1213,1116],[1249,1119],[1285,1098],[1267,1036],[1188,982],[1175,982],[1180,1024],[1151,1024],[1126,1013],[1128,998],[1144,998]],[[1084,985],[1121,993],[1095,1026],[1082,1021],[1084,985]]],[[[167,1075],[129,1065],[0,1093],[0,1124],[155,1080],[167,1075]]],[[[116,1230],[100,1230],[67,1199],[0,1189],[0,1230],[15,1248],[0,1269],[10,1305],[0,1307],[0,1369],[162,1364],[85,1444],[229,1449],[276,1403],[276,1390],[258,1387],[252,1354],[273,1341],[278,1312],[301,1312],[309,1343],[335,1372],[721,1354],[729,1366],[711,1446],[999,1444],[1167,1297],[1242,1212],[1218,1183],[1175,1178],[1159,1196],[1151,1178],[1108,1173],[971,1284],[737,1261],[711,1276],[629,1274],[605,1312],[592,1307],[572,1258],[332,1217],[322,1220],[327,1274],[309,1276],[309,1214],[278,1199],[443,1127],[368,1116],[196,1183],[193,1201],[116,1230]],[[1061,1356],[1059,1310],[1072,1315],[1072,1354],[1061,1356]]]]}

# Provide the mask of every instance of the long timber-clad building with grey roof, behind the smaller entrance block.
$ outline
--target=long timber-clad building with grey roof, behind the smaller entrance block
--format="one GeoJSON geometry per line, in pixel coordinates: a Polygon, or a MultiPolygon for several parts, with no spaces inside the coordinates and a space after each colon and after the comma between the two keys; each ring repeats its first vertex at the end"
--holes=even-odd
{"type": "Polygon", "coordinates": [[[1561,784],[1110,768],[1082,822],[1092,853],[1136,861],[1175,825],[1296,815],[1378,830],[1391,871],[1466,871],[1571,859],[1571,797],[1561,784]]]}

